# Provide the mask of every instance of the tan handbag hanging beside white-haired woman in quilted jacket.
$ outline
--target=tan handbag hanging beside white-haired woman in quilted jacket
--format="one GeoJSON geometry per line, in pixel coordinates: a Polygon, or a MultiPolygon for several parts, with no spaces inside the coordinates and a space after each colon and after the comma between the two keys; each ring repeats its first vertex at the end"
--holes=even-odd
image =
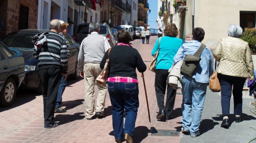
{"type": "Polygon", "coordinates": [[[215,61],[215,70],[209,79],[209,88],[212,90],[212,92],[220,92],[221,91],[220,82],[217,77],[216,63],[217,63],[217,61],[215,61]]]}

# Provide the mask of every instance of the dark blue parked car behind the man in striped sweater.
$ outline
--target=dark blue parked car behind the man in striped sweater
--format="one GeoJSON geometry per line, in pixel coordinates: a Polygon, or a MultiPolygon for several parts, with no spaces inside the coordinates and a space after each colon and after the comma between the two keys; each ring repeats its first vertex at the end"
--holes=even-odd
{"type": "MultiPolygon", "coordinates": [[[[25,72],[26,76],[20,86],[20,88],[37,89],[38,93],[42,93],[42,82],[38,73],[37,60],[33,57],[34,46],[32,38],[37,33],[50,30],[42,29],[24,29],[17,32],[12,32],[7,35],[2,42],[9,48],[18,49],[21,51],[25,60],[25,72]]],[[[77,44],[68,34],[65,36],[68,48],[70,50],[70,58],[68,61],[67,74],[72,79],[79,78],[80,71],[78,69],[78,53],[80,45],[77,44]]]]}

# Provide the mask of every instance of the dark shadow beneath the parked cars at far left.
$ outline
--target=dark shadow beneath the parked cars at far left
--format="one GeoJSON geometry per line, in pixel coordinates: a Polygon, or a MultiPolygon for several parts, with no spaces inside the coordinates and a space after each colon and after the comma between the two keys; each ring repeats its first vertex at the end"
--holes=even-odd
{"type": "Polygon", "coordinates": [[[9,107],[0,107],[0,112],[23,105],[27,102],[34,100],[36,96],[40,95],[42,94],[35,93],[35,91],[31,89],[19,89],[16,91],[14,103],[9,107]]]}

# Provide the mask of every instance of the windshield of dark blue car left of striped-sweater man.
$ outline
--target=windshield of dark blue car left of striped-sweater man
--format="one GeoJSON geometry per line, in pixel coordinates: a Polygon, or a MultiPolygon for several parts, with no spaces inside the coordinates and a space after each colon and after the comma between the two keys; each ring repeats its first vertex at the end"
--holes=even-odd
{"type": "Polygon", "coordinates": [[[10,48],[23,48],[23,49],[33,49],[32,38],[35,33],[17,33],[13,32],[6,36],[2,42],[10,48]]]}

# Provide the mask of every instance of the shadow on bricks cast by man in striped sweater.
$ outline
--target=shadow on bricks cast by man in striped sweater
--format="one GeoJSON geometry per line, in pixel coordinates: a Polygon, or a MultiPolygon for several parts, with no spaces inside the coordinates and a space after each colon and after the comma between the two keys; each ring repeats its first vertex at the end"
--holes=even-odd
{"type": "Polygon", "coordinates": [[[54,121],[59,121],[59,125],[66,124],[69,122],[73,122],[75,120],[82,120],[85,116],[82,115],[84,112],[70,114],[58,114],[55,116],[54,121]]]}

